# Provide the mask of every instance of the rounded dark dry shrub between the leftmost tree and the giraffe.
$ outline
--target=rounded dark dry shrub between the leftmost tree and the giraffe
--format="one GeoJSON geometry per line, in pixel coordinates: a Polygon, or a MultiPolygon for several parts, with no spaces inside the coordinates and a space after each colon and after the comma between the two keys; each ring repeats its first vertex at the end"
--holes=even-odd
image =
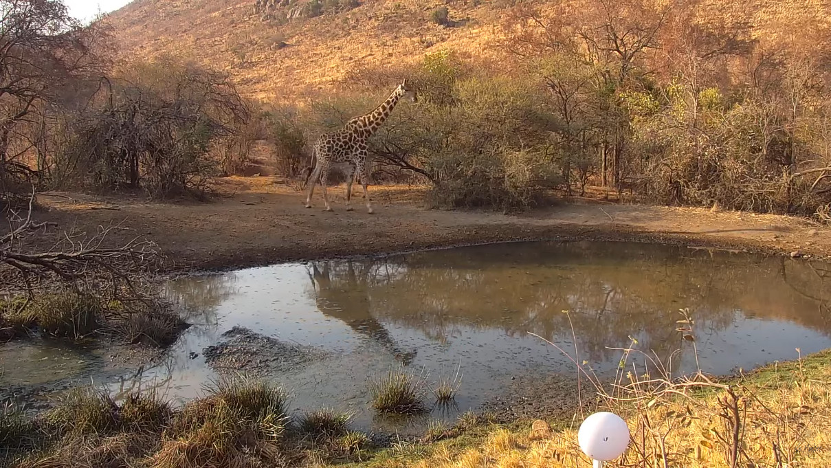
{"type": "Polygon", "coordinates": [[[53,185],[155,198],[205,195],[223,170],[244,165],[254,136],[228,76],[173,59],[130,64],[65,119],[53,185]]]}

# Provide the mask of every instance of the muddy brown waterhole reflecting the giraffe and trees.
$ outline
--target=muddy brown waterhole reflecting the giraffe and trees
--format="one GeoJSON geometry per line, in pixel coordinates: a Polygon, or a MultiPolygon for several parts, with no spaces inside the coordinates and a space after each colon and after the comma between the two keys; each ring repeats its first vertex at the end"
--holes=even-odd
{"type": "Polygon", "coordinates": [[[222,373],[252,373],[283,383],[293,410],[351,410],[354,426],[385,432],[425,422],[373,416],[367,379],[393,364],[428,386],[460,368],[455,406],[426,416],[450,420],[510,401],[529,377],[573,379],[573,362],[542,338],[601,374],[614,372],[621,352],[613,348],[632,338],[675,376],[831,347],[828,264],[650,244],[502,244],[281,264],[181,278],[168,290],[198,311],[194,326],[158,365],[101,383],[116,392],[157,387],[181,401],[222,373]],[[695,320],[695,342],[676,331],[681,308],[695,320]]]}

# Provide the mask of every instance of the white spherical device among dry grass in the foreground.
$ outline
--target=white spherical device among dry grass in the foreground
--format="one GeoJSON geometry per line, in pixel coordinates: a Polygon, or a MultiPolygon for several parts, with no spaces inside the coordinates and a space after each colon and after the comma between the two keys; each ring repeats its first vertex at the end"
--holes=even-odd
{"type": "Polygon", "coordinates": [[[593,460],[610,461],[622,456],[629,446],[629,427],[620,416],[602,411],[583,421],[577,440],[593,460]]]}

